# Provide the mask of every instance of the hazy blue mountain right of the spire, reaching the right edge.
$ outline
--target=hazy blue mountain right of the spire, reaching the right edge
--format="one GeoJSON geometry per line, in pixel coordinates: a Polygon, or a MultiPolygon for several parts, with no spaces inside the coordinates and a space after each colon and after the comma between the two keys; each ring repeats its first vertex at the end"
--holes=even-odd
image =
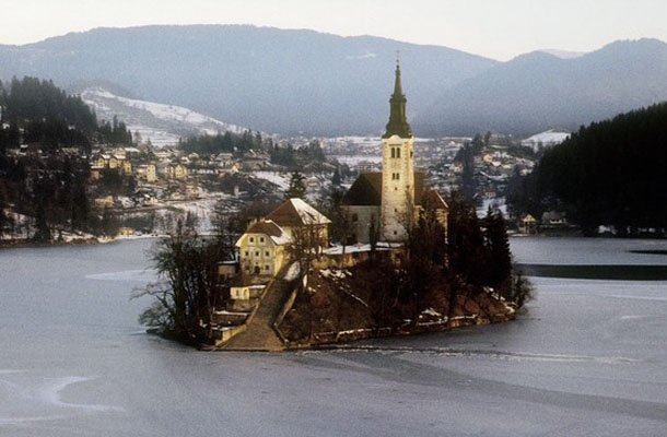
{"type": "Polygon", "coordinates": [[[534,134],[667,101],[667,44],[618,42],[578,58],[519,56],[445,90],[420,113],[421,135],[500,131],[534,134]]]}

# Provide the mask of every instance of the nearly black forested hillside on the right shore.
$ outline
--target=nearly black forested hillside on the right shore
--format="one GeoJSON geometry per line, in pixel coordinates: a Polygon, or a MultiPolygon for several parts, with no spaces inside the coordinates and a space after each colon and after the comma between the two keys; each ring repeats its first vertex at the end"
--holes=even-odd
{"type": "Polygon", "coordinates": [[[666,235],[667,103],[582,127],[548,150],[535,172],[515,177],[513,212],[566,211],[586,234],[666,235]]]}

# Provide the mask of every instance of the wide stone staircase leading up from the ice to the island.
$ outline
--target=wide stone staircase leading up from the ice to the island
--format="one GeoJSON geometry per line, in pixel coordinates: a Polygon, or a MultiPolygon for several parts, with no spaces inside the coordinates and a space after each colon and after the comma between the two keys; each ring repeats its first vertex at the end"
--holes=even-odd
{"type": "Polygon", "coordinates": [[[222,349],[226,351],[282,351],[284,345],[273,329],[273,322],[292,293],[293,286],[293,282],[276,279],[266,291],[246,330],[234,335],[222,349]]]}

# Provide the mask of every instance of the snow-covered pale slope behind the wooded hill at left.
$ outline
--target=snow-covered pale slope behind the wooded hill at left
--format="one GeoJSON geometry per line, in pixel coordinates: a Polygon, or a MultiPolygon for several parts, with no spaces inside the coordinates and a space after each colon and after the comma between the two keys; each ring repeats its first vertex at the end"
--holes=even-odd
{"type": "Polygon", "coordinates": [[[95,109],[98,119],[112,120],[118,116],[132,133],[139,132],[142,141],[151,140],[155,146],[174,145],[179,138],[247,130],[212,117],[175,105],[163,105],[124,96],[122,90],[107,91],[106,85],[79,88],[83,102],[95,109]],[[116,94],[118,93],[118,94],[116,94]]]}

